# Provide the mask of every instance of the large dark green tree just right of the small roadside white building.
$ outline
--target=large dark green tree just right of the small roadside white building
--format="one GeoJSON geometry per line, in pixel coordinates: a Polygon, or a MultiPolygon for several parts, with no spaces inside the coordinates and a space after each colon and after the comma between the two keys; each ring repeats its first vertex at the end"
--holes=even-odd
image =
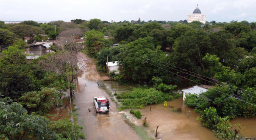
{"type": "Polygon", "coordinates": [[[154,48],[151,37],[139,38],[127,44],[126,50],[118,55],[121,61],[121,76],[132,80],[151,80],[154,75],[167,74],[154,66],[156,61],[165,61],[166,58],[162,51],[154,48]],[[150,60],[150,63],[146,63],[147,60],[150,60]]]}

